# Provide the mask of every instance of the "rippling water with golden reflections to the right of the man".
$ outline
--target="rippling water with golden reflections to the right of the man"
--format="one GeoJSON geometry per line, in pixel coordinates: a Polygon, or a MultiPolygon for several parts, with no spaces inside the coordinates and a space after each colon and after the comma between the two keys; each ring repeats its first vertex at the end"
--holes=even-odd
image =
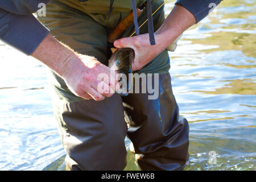
{"type": "Polygon", "coordinates": [[[223,1],[171,53],[172,85],[190,123],[184,170],[255,170],[255,1],[223,1]],[[209,151],[217,164],[209,164],[209,151]]]}

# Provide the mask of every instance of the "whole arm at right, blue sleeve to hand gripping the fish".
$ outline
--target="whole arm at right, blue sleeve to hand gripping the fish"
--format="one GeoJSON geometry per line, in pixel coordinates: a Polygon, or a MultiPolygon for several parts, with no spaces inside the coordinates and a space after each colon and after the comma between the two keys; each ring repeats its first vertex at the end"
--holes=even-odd
{"type": "Polygon", "coordinates": [[[117,48],[130,47],[135,51],[132,67],[137,71],[159,55],[185,30],[196,24],[209,13],[209,3],[221,0],[178,0],[162,26],[155,32],[155,46],[151,46],[149,35],[142,34],[131,38],[115,40],[117,48]]]}

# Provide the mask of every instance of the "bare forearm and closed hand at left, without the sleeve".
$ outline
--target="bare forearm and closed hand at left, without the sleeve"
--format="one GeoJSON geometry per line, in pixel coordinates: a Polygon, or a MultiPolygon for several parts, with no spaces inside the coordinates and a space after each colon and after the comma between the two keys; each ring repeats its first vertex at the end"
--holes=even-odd
{"type": "Polygon", "coordinates": [[[74,52],[51,35],[40,43],[32,56],[60,75],[71,92],[85,99],[101,101],[111,97],[118,84],[110,74],[110,68],[92,56],[74,52]],[[108,79],[98,80],[101,73],[108,76],[108,79]],[[98,84],[101,85],[100,89],[98,84]]]}

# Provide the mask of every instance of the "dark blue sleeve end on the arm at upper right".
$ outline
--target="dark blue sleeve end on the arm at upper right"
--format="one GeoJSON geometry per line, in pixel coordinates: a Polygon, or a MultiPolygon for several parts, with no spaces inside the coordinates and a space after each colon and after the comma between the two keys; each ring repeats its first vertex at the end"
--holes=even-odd
{"type": "Polygon", "coordinates": [[[222,0],[177,0],[175,5],[183,6],[190,11],[195,18],[196,22],[200,22],[207,16],[211,10],[214,9],[222,0]]]}

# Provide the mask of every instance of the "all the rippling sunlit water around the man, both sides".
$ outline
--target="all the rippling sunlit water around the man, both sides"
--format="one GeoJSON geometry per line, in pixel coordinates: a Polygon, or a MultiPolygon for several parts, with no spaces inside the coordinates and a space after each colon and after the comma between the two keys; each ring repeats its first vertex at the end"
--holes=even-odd
{"type": "MultiPolygon", "coordinates": [[[[256,169],[255,7],[225,0],[170,53],[172,88],[190,125],[184,170],[256,169]]],[[[3,43],[0,52],[0,169],[64,169],[47,68],[3,43]]],[[[138,169],[130,152],[127,160],[126,169],[138,169]]]]}

